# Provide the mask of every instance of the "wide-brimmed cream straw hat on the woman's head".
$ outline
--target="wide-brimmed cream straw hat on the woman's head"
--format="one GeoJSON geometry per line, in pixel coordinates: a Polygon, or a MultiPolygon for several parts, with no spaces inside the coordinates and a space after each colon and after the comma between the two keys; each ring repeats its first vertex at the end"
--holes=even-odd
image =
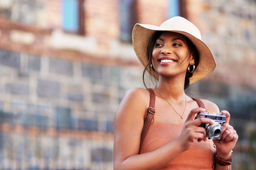
{"type": "MultiPolygon", "coordinates": [[[[160,26],[138,23],[134,26],[133,48],[139,58],[139,61],[141,61],[144,67],[148,64],[148,41],[156,31],[172,31],[183,34],[188,37],[192,43],[194,43],[194,46],[197,47],[200,60],[196,70],[194,70],[193,76],[190,77],[190,84],[202,79],[215,70],[215,58],[213,57],[209,47],[203,42],[199,29],[192,22],[181,16],[172,17],[171,19],[163,22],[160,26]]],[[[152,76],[158,79],[157,73],[152,73],[152,76]]]]}

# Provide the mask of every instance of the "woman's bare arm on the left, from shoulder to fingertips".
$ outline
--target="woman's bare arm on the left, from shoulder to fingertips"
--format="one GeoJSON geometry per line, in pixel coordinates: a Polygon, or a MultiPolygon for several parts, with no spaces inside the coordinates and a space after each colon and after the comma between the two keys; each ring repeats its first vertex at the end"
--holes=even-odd
{"type": "Polygon", "coordinates": [[[190,112],[181,136],[157,150],[139,154],[143,118],[148,109],[148,91],[136,88],[123,97],[114,119],[114,169],[161,169],[172,159],[186,151],[194,140],[206,140],[205,130],[198,125],[213,123],[208,118],[193,120],[197,108],[190,112]],[[161,157],[159,157],[161,156],[161,157]]]}

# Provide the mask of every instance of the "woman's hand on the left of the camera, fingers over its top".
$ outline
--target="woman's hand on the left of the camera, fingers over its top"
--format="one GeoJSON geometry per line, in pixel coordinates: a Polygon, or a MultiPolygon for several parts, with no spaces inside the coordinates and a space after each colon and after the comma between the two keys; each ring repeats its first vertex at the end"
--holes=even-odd
{"type": "Polygon", "coordinates": [[[215,121],[209,118],[195,118],[195,115],[199,112],[206,112],[206,109],[196,108],[192,109],[187,116],[187,120],[184,123],[184,127],[181,131],[181,136],[178,137],[178,141],[181,147],[186,151],[194,144],[194,141],[206,141],[206,130],[203,127],[199,127],[200,124],[214,124],[215,121]]]}

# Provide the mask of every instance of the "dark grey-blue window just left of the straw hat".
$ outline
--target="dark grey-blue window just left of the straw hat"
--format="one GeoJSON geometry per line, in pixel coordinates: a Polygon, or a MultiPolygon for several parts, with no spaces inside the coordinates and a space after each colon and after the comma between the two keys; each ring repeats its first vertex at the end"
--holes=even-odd
{"type": "Polygon", "coordinates": [[[120,0],[120,40],[132,42],[135,0],[120,0]]]}

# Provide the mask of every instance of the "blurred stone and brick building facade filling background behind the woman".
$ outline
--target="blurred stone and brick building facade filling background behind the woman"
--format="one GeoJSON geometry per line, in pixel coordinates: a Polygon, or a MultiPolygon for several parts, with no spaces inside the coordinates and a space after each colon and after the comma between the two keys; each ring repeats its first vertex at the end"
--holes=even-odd
{"type": "Polygon", "coordinates": [[[194,22],[218,67],[187,94],[230,111],[233,169],[255,169],[252,0],[0,1],[0,169],[112,169],[114,112],[143,87],[136,22],[194,22]]]}

